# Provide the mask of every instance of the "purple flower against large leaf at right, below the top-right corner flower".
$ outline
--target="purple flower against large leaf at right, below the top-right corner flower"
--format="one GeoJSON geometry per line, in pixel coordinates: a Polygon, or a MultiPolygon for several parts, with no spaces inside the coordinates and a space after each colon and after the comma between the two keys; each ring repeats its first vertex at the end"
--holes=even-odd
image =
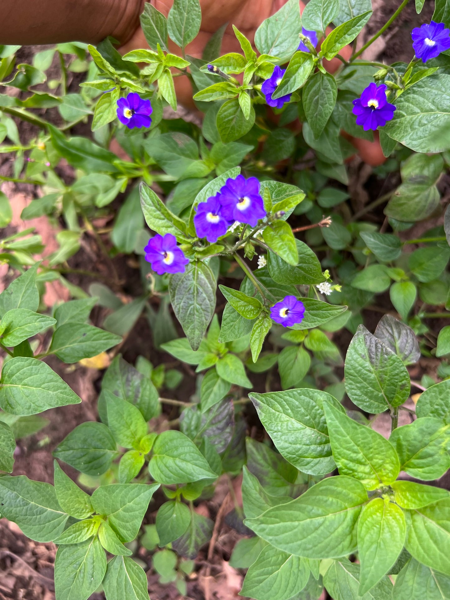
{"type": "Polygon", "coordinates": [[[364,131],[386,125],[394,116],[395,106],[386,100],[386,86],[384,83],[377,86],[369,83],[361,94],[361,98],[353,100],[353,115],[356,116],[356,125],[362,125],[364,131]]]}

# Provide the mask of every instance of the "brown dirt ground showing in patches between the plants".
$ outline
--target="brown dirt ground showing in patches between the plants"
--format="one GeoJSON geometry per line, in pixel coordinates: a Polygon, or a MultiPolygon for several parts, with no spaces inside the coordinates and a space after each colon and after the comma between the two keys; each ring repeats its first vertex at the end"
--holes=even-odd
{"type": "MultiPolygon", "coordinates": [[[[393,3],[392,0],[373,0],[374,15],[365,29],[364,40],[361,43],[370,38],[391,16],[394,11],[393,4],[397,7],[398,2],[393,3]]],[[[413,26],[430,21],[433,13],[433,5],[434,2],[425,2],[424,10],[418,16],[415,12],[414,3],[410,2],[394,25],[370,48],[366,58],[376,58],[378,60],[385,60],[386,62],[409,61],[412,58],[410,31],[413,26]]],[[[31,62],[31,56],[37,50],[36,48],[21,49],[20,62],[31,62]]],[[[70,82],[72,89],[76,88],[79,78],[80,76],[73,74],[73,80],[70,82]]],[[[58,122],[58,113],[54,111],[52,116],[58,122]]],[[[50,118],[48,111],[46,118],[50,118]]],[[[17,122],[17,124],[20,128],[22,140],[26,140],[35,134],[32,126],[26,122],[17,122]]],[[[87,131],[83,130],[83,127],[85,126],[80,125],[77,133],[86,134],[87,131]]],[[[62,166],[62,169],[63,176],[69,179],[73,176],[70,167],[62,166]]],[[[7,155],[0,154],[0,175],[11,175],[10,157],[7,155]]],[[[380,194],[394,188],[398,185],[398,181],[395,179],[395,176],[387,178],[382,184],[382,191],[380,185],[380,181],[373,176],[370,167],[367,167],[358,158],[355,158],[350,164],[349,185],[355,208],[361,208],[365,203],[376,199],[380,194]]],[[[19,215],[23,206],[37,194],[37,189],[26,184],[9,183],[2,184],[1,189],[10,197],[14,207],[15,217],[9,232],[6,232],[8,235],[9,233],[13,233],[14,230],[25,228],[25,223],[20,221],[19,215]]],[[[450,192],[450,180],[448,178],[444,178],[440,182],[440,191],[443,202],[445,202],[448,200],[450,192]]],[[[382,208],[368,213],[367,219],[382,224],[384,220],[382,208]]],[[[47,253],[50,253],[55,248],[55,230],[49,226],[46,218],[40,218],[35,221],[34,226],[38,230],[38,233],[43,236],[47,253]]],[[[304,224],[301,217],[299,217],[298,224],[304,224]]],[[[410,238],[413,236],[413,238],[418,238],[424,229],[437,224],[442,224],[442,217],[437,217],[435,221],[427,221],[426,226],[421,223],[417,224],[407,232],[407,237],[410,238]]],[[[29,226],[29,221],[27,221],[26,227],[29,226]]],[[[140,293],[140,280],[136,263],[130,257],[123,256],[116,257],[113,263],[121,281],[119,289],[115,289],[115,292],[120,292],[125,297],[130,296],[130,298],[138,295],[140,293]]],[[[102,259],[97,242],[94,238],[87,235],[83,239],[82,249],[70,260],[70,266],[73,269],[87,268],[97,271],[103,278],[111,277],[110,265],[106,264],[102,259]]],[[[79,274],[71,274],[67,275],[67,277],[74,284],[85,290],[93,282],[91,278],[79,274]]],[[[0,266],[0,290],[2,289],[2,284],[5,286],[7,283],[8,269],[0,266]]],[[[52,305],[57,299],[67,299],[66,290],[62,286],[49,286],[46,295],[47,303],[52,305]]],[[[374,331],[382,314],[389,312],[391,308],[388,294],[377,296],[377,306],[364,310],[365,325],[368,329],[374,331]]],[[[94,310],[94,324],[96,320],[101,322],[101,318],[103,318],[101,310],[100,308],[94,310]]],[[[437,332],[446,324],[434,320],[433,323],[430,323],[430,326],[432,325],[434,331],[437,332]]],[[[340,346],[343,355],[351,338],[352,335],[344,330],[339,332],[339,335],[334,340],[340,346]]],[[[122,344],[120,351],[124,355],[124,358],[132,363],[138,355],[146,356],[155,365],[172,359],[151,347],[151,331],[145,316],[140,317],[133,331],[125,339],[124,344],[122,344]]],[[[52,451],[76,425],[84,421],[97,419],[97,396],[103,373],[102,371],[81,367],[80,365],[62,365],[56,359],[49,359],[49,364],[82,398],[82,403],[60,409],[52,409],[44,414],[50,421],[49,425],[37,435],[19,440],[17,443],[13,474],[28,475],[38,481],[53,482],[52,451]]],[[[419,381],[424,373],[436,376],[438,364],[439,361],[437,360],[422,358],[418,365],[414,365],[409,369],[410,375],[415,381],[419,381]]],[[[254,383],[257,391],[264,391],[262,382],[257,378],[254,380],[254,383]],[[261,387],[260,390],[258,389],[259,387],[261,387]]],[[[193,391],[193,378],[189,377],[189,372],[187,372],[182,390],[179,389],[176,392],[170,393],[175,394],[172,397],[179,400],[187,400],[193,391]]],[[[350,407],[350,404],[348,402],[347,406],[350,407]]],[[[164,419],[169,421],[176,418],[178,416],[176,411],[175,407],[164,407],[164,414],[161,417],[162,421],[164,419]]],[[[407,413],[405,412],[404,415],[407,415],[407,413]]],[[[251,432],[253,436],[262,437],[263,430],[257,420],[253,407],[246,407],[244,416],[247,420],[248,432],[251,432]]],[[[407,419],[408,417],[405,416],[404,418],[407,419]]],[[[162,423],[160,423],[160,426],[164,427],[162,423]]],[[[388,416],[386,415],[385,418],[384,415],[380,415],[377,418],[375,428],[388,436],[388,416]]],[[[77,472],[74,469],[64,465],[64,470],[68,475],[76,479],[77,472]]],[[[239,480],[235,481],[233,485],[238,496],[239,485],[239,480]]],[[[438,482],[438,485],[450,489],[449,475],[442,478],[438,482]]],[[[188,581],[187,596],[179,595],[172,584],[161,586],[158,583],[158,576],[150,569],[151,553],[146,551],[145,548],[140,549],[139,559],[149,568],[148,589],[152,600],[180,600],[181,598],[191,600],[232,600],[233,598],[238,598],[244,572],[239,572],[231,568],[227,560],[229,560],[236,541],[241,538],[241,534],[224,522],[227,512],[225,508],[228,507],[231,509],[229,499],[228,482],[226,478],[222,478],[217,485],[214,497],[208,502],[202,502],[197,506],[197,511],[216,521],[216,527],[212,544],[202,549],[196,561],[196,569],[188,581]]],[[[155,499],[152,500],[148,515],[146,515],[145,523],[154,523],[156,511],[162,502],[164,502],[162,494],[155,494],[155,499]]],[[[55,553],[56,547],[54,544],[40,544],[31,541],[22,535],[15,524],[9,523],[5,519],[0,519],[0,600],[54,600],[53,563],[55,553]]],[[[104,595],[103,593],[97,593],[92,595],[91,598],[92,600],[102,600],[104,599],[104,595]]],[[[326,596],[323,595],[322,600],[325,598],[326,596]]]]}

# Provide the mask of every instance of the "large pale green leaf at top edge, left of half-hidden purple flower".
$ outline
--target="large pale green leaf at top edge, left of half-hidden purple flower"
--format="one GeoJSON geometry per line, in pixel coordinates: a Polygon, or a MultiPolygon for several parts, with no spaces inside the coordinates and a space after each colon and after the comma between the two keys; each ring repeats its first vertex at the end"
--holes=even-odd
{"type": "Polygon", "coordinates": [[[288,0],[257,28],[254,43],[260,54],[277,56],[281,62],[285,62],[298,48],[301,30],[298,3],[288,0]]]}

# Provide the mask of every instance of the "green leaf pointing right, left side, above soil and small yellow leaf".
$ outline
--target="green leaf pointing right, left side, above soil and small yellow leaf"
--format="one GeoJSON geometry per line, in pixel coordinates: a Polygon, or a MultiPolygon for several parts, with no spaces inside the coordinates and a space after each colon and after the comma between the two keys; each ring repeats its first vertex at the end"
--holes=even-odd
{"type": "Polygon", "coordinates": [[[56,354],[61,361],[72,363],[82,358],[97,356],[121,341],[119,335],[111,334],[94,325],[66,323],[58,327],[53,334],[50,352],[56,354]]]}

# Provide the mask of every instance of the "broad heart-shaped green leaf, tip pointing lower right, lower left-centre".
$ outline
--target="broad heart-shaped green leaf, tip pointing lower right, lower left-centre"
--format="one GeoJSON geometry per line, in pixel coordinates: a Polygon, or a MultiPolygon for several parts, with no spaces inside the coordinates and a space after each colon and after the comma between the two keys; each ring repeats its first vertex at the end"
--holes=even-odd
{"type": "Polygon", "coordinates": [[[181,431],[163,431],[153,446],[149,471],[164,485],[216,479],[197,446],[181,431]]]}

